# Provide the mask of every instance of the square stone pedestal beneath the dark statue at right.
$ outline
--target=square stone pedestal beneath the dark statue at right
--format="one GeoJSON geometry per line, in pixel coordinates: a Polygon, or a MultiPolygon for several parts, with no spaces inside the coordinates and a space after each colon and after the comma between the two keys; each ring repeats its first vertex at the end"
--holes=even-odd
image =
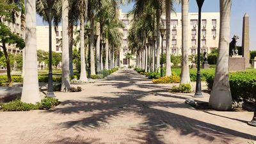
{"type": "Polygon", "coordinates": [[[244,72],[246,70],[245,65],[246,58],[242,56],[232,56],[229,58],[229,71],[230,72],[244,72]]]}

